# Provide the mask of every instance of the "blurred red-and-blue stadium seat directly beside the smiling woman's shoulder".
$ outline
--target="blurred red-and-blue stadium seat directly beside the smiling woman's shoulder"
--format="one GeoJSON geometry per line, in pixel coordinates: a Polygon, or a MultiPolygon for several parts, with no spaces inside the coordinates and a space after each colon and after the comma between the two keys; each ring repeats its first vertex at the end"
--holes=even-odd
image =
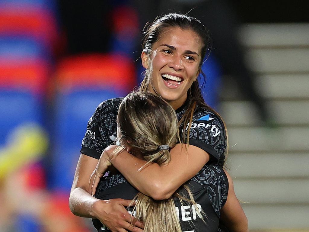
{"type": "Polygon", "coordinates": [[[69,192],[89,118],[102,101],[133,89],[135,71],[125,56],[79,55],[59,63],[56,81],[51,187],[69,192]]]}

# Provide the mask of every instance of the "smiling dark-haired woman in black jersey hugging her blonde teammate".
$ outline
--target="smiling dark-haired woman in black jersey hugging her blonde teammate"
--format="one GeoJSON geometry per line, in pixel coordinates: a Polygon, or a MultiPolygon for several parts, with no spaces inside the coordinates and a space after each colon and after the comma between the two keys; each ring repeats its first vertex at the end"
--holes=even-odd
{"type": "MultiPolygon", "coordinates": [[[[154,200],[164,200],[170,198],[187,181],[194,180],[202,185],[208,174],[211,175],[215,170],[214,172],[222,175],[212,180],[211,188],[200,186],[201,188],[192,191],[197,204],[200,204],[201,199],[198,199],[198,196],[201,195],[209,202],[209,208],[201,210],[211,212],[216,218],[212,220],[215,223],[203,231],[217,231],[221,214],[224,220],[222,222],[229,226],[230,230],[247,231],[247,219],[234,194],[232,182],[223,174],[222,166],[227,152],[225,124],[220,115],[205,104],[197,83],[197,76],[201,74],[201,64],[209,48],[208,31],[193,17],[179,14],[163,15],[147,28],[142,52],[142,64],[146,68],[146,75],[140,91],[151,92],[172,106],[179,120],[179,136],[182,143],[171,149],[170,161],[162,166],[156,163],[147,164],[147,161],[134,156],[134,151],[133,154],[127,151],[117,153],[111,159],[112,148],[108,145],[113,143],[111,138],[117,136],[115,125],[123,98],[102,102],[87,125],[87,130],[95,132],[96,136],[91,138],[86,133],[82,142],[70,194],[70,209],[74,214],[97,218],[111,231],[141,232],[143,224],[135,220],[135,223],[131,224],[132,217],[124,207],[128,206],[131,200],[119,199],[130,199],[130,196],[126,195],[128,191],[117,191],[116,188],[112,191],[110,187],[120,186],[120,182],[125,182],[154,200]],[[116,178],[116,182],[112,177],[104,180],[102,183],[109,187],[107,192],[112,194],[104,198],[109,200],[96,199],[91,196],[93,180],[102,177],[107,166],[111,164],[124,178],[116,178]],[[227,187],[228,193],[223,189],[224,183],[230,186],[227,187]],[[206,192],[201,194],[200,189],[206,192]]],[[[155,127],[159,130],[161,124],[163,123],[155,123],[155,127]]],[[[148,138],[149,133],[142,134],[142,137],[148,138]]],[[[157,145],[159,149],[164,144],[157,145]]],[[[191,208],[194,210],[194,207],[191,208]]],[[[185,212],[182,215],[189,214],[190,212],[185,212]]],[[[191,214],[194,219],[196,212],[192,211],[191,214]]],[[[188,218],[182,219],[187,221],[188,218]]],[[[194,231],[194,222],[189,224],[191,231],[194,231]]]]}

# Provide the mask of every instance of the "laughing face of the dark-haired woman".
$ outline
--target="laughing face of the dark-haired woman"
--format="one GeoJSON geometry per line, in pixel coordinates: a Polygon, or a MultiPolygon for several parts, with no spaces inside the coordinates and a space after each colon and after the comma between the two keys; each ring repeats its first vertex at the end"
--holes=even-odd
{"type": "Polygon", "coordinates": [[[151,53],[142,53],[143,67],[150,76],[149,91],[179,108],[199,74],[202,46],[201,38],[190,29],[165,29],[151,53]]]}

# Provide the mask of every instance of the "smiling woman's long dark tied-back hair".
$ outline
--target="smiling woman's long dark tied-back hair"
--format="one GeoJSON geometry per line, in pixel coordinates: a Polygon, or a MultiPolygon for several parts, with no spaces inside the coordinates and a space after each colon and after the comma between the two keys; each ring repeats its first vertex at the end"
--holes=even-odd
{"type": "MultiPolygon", "coordinates": [[[[204,76],[204,82],[203,82],[203,85],[204,85],[206,77],[205,77],[205,74],[201,71],[201,66],[202,66],[203,61],[205,60],[206,54],[207,54],[207,57],[210,54],[212,42],[211,42],[209,31],[205,28],[205,26],[198,19],[191,17],[191,16],[181,15],[181,14],[176,14],[176,13],[170,13],[167,15],[160,16],[149,27],[145,27],[146,31],[144,30],[145,36],[144,36],[144,42],[143,42],[143,52],[145,52],[146,54],[150,54],[152,51],[153,44],[159,40],[160,36],[167,29],[171,27],[178,27],[181,29],[190,29],[193,32],[195,32],[203,41],[203,46],[201,48],[201,62],[199,64],[199,69],[200,69],[200,74],[204,76]]],[[[146,72],[146,75],[140,87],[141,91],[148,91],[149,80],[150,80],[149,73],[146,72]]],[[[202,96],[201,89],[200,89],[200,86],[197,80],[194,81],[191,87],[189,88],[187,92],[187,97],[189,101],[189,107],[184,113],[179,123],[183,122],[184,128],[189,123],[188,131],[185,132],[185,130],[183,130],[183,135],[182,135],[182,142],[188,144],[188,137],[189,137],[190,127],[192,124],[193,112],[195,110],[196,105],[200,105],[212,111],[214,110],[211,109],[210,106],[205,104],[205,101],[202,96]]],[[[217,115],[220,117],[218,113],[217,115]]],[[[226,131],[225,124],[224,124],[224,127],[226,131]]],[[[227,136],[227,133],[226,133],[226,136],[227,136]]],[[[227,150],[228,149],[226,149],[226,151],[227,150]]]]}

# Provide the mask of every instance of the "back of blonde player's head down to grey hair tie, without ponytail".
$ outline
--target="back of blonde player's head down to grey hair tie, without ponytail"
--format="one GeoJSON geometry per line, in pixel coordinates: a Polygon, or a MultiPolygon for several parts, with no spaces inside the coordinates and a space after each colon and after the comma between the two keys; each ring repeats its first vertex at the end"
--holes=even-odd
{"type": "Polygon", "coordinates": [[[170,161],[169,150],[159,150],[177,143],[178,121],[173,108],[149,92],[132,92],[122,101],[117,117],[121,132],[119,141],[126,143],[133,154],[144,160],[165,165],[170,161]]]}

